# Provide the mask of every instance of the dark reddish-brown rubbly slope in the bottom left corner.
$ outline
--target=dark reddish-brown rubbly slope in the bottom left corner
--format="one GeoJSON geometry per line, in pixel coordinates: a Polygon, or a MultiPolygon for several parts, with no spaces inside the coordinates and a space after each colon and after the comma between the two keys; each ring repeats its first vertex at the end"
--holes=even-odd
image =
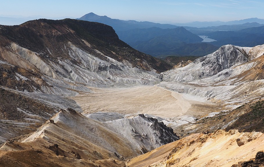
{"type": "Polygon", "coordinates": [[[7,142],[0,150],[1,167],[123,167],[122,161],[113,159],[80,159],[75,152],[64,152],[60,146],[44,139],[21,143],[7,142]],[[5,150],[5,148],[7,150],[5,150]],[[10,149],[12,148],[12,149],[10,149]]]}

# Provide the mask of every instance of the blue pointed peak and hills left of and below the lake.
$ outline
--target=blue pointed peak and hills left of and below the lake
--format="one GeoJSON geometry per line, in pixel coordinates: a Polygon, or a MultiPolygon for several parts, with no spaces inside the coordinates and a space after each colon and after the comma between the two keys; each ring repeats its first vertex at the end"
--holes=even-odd
{"type": "Polygon", "coordinates": [[[198,35],[175,25],[148,21],[124,21],[94,13],[88,13],[79,20],[95,21],[112,26],[122,41],[152,56],[181,54],[204,56],[218,49],[211,44],[200,43],[202,38],[198,35]],[[189,43],[196,44],[191,46],[189,43]]]}

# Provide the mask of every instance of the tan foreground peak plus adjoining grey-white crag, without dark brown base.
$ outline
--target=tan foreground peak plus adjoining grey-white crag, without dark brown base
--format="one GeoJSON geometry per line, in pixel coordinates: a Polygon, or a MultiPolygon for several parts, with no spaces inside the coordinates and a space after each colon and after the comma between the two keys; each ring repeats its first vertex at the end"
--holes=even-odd
{"type": "MultiPolygon", "coordinates": [[[[85,146],[85,150],[91,149],[90,145],[93,145],[94,150],[100,153],[107,150],[112,157],[121,160],[179,139],[171,128],[159,123],[157,119],[149,119],[144,115],[131,119],[98,122],[72,109],[61,110],[23,142],[35,141],[38,138],[67,147],[66,150],[71,149],[69,145],[72,143],[85,146]],[[102,148],[105,150],[99,151],[102,148]]],[[[74,151],[88,159],[89,153],[83,150],[82,148],[74,151]]],[[[94,159],[98,160],[97,157],[94,159]]]]}

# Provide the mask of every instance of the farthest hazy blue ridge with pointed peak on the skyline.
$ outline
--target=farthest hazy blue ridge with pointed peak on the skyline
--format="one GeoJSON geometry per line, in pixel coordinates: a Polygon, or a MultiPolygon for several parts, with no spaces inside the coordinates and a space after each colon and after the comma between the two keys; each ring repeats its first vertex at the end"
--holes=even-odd
{"type": "Polygon", "coordinates": [[[98,16],[94,13],[88,13],[84,16],[80,17],[78,20],[85,21],[94,21],[98,23],[103,23],[109,25],[114,28],[115,31],[124,31],[124,30],[132,30],[135,28],[151,28],[151,27],[159,27],[159,28],[176,28],[179,26],[171,25],[171,24],[160,24],[153,23],[149,21],[135,21],[135,20],[119,20],[119,19],[111,19],[107,16],[98,16]]]}

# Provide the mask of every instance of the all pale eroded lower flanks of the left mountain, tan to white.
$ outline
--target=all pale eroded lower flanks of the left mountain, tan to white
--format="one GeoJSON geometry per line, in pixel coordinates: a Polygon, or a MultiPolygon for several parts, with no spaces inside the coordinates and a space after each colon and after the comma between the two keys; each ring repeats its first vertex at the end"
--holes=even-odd
{"type": "MultiPolygon", "coordinates": [[[[64,48],[65,52],[73,60],[57,58],[57,61],[45,59],[38,53],[11,43],[9,48],[1,48],[6,61],[12,64],[27,68],[33,71],[39,70],[43,75],[42,79],[49,86],[42,86],[45,93],[73,96],[77,91],[89,92],[86,86],[111,87],[111,86],[131,86],[131,85],[154,85],[160,81],[160,77],[155,73],[133,68],[127,62],[118,62],[100,51],[97,53],[107,58],[101,60],[88,52],[78,48],[72,43],[64,48]],[[76,63],[77,62],[77,63],[76,63]]],[[[37,81],[37,78],[30,78],[37,81]]]]}

